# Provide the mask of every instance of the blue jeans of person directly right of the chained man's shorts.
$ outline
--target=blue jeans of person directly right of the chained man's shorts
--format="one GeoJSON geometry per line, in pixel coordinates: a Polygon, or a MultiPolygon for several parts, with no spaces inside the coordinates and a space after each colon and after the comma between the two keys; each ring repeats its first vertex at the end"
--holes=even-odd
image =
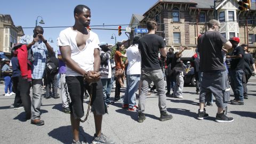
{"type": "Polygon", "coordinates": [[[103,98],[105,101],[105,104],[110,103],[110,93],[112,89],[112,79],[111,78],[101,78],[101,83],[103,87],[103,98]]]}

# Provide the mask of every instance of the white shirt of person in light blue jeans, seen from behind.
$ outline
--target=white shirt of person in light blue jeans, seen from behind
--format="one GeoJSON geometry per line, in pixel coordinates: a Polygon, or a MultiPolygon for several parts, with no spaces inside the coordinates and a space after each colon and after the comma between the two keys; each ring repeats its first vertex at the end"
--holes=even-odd
{"type": "Polygon", "coordinates": [[[126,50],[126,55],[129,61],[126,74],[140,75],[141,74],[141,55],[138,49],[138,44],[131,45],[126,50]]]}

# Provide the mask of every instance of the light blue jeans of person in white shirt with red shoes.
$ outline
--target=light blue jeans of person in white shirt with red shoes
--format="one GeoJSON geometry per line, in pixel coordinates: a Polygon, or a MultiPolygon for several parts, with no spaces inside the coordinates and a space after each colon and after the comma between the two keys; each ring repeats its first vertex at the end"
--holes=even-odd
{"type": "Polygon", "coordinates": [[[139,88],[140,75],[127,75],[127,86],[124,94],[124,105],[129,104],[129,108],[136,105],[135,92],[139,88]]]}

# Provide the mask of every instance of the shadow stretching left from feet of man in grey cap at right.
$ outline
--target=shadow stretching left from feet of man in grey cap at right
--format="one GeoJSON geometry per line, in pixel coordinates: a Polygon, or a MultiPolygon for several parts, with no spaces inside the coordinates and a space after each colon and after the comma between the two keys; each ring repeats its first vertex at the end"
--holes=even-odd
{"type": "MultiPolygon", "coordinates": [[[[167,108],[167,111],[171,114],[178,114],[178,115],[184,115],[184,116],[189,116],[189,117],[194,117],[197,119],[197,113],[191,112],[190,110],[187,109],[181,109],[181,108],[167,108]]],[[[215,117],[209,116],[205,120],[209,121],[215,121],[215,117]]]]}

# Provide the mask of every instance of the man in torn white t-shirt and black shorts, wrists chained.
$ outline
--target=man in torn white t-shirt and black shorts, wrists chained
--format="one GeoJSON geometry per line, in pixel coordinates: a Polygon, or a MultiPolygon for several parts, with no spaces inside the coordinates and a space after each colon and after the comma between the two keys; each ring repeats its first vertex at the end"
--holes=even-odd
{"type": "Polygon", "coordinates": [[[94,115],[95,134],[92,143],[115,143],[101,133],[102,115],[107,113],[100,81],[100,47],[98,35],[87,29],[91,10],[77,5],[74,10],[75,24],[60,32],[58,45],[62,60],[66,63],[66,82],[72,101],[70,121],[73,143],[79,141],[79,124],[84,116],[83,95],[85,89],[91,95],[91,110],[94,115]],[[90,39],[90,41],[89,41],[90,39]]]}

